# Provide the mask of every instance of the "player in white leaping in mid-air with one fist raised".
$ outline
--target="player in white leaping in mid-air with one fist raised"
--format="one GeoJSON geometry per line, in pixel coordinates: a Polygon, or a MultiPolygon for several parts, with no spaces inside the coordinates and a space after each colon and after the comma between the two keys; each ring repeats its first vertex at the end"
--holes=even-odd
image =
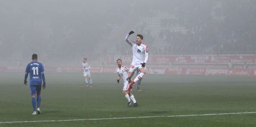
{"type": "Polygon", "coordinates": [[[140,80],[146,73],[146,62],[148,61],[148,56],[149,56],[148,46],[142,43],[143,35],[137,34],[136,42],[131,42],[129,40],[129,36],[133,33],[134,31],[130,31],[130,33],[127,34],[125,37],[125,41],[133,47],[133,62],[131,62],[129,76],[128,76],[130,86],[134,85],[135,82],[140,80]],[[136,69],[138,69],[139,72],[141,73],[139,73],[137,77],[133,81],[131,81],[131,77],[133,77],[133,74],[136,69]]]}

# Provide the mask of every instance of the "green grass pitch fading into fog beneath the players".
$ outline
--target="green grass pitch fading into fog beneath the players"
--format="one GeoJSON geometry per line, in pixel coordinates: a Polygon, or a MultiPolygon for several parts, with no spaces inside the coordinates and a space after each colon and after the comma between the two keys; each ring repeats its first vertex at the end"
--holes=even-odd
{"type": "MultiPolygon", "coordinates": [[[[0,122],[90,118],[172,116],[256,112],[256,80],[249,77],[176,77],[146,75],[142,92],[134,87],[137,108],[127,101],[115,74],[92,74],[87,88],[82,74],[46,73],[41,112],[32,116],[23,74],[0,74],[0,122]]],[[[256,114],[135,118],[0,124],[0,126],[256,126],[256,114]]]]}

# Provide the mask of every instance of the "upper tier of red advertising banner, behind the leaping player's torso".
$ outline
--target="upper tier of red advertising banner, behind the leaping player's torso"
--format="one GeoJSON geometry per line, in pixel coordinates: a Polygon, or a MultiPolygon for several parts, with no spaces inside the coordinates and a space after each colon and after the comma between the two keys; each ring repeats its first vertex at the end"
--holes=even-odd
{"type": "MultiPolygon", "coordinates": [[[[116,55],[107,57],[108,63],[114,63],[115,59],[131,62],[131,55],[116,55]],[[112,60],[111,60],[112,59],[112,60]]],[[[256,64],[256,55],[149,55],[149,63],[245,63],[256,64]]]]}

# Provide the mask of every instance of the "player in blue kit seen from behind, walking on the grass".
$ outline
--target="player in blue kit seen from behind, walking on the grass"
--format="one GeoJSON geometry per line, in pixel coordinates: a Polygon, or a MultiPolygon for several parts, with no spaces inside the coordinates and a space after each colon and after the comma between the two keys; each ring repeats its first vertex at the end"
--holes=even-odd
{"type": "Polygon", "coordinates": [[[33,113],[32,114],[40,114],[40,103],[41,103],[41,88],[45,89],[45,76],[44,76],[44,66],[42,63],[37,62],[37,54],[32,55],[32,62],[26,66],[25,79],[24,84],[26,85],[28,82],[26,79],[28,78],[28,74],[30,76],[30,94],[32,96],[32,106],[33,113]],[[42,85],[42,81],[44,84],[42,85]],[[37,97],[37,98],[36,98],[37,97]],[[36,110],[36,102],[37,102],[37,110],[36,110]]]}

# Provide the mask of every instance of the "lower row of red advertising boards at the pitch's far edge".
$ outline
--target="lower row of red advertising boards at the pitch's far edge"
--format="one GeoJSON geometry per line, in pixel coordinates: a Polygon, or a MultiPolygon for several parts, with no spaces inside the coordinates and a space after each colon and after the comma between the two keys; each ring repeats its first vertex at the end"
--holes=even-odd
{"type": "MultiPolygon", "coordinates": [[[[94,66],[91,73],[115,73],[117,66],[94,66]]],[[[17,67],[0,67],[0,72],[24,72],[17,67]]],[[[45,72],[83,73],[81,67],[47,67],[45,72]]],[[[223,69],[223,68],[163,68],[149,67],[147,74],[167,74],[176,76],[250,76],[256,77],[256,69],[223,69]]]]}

